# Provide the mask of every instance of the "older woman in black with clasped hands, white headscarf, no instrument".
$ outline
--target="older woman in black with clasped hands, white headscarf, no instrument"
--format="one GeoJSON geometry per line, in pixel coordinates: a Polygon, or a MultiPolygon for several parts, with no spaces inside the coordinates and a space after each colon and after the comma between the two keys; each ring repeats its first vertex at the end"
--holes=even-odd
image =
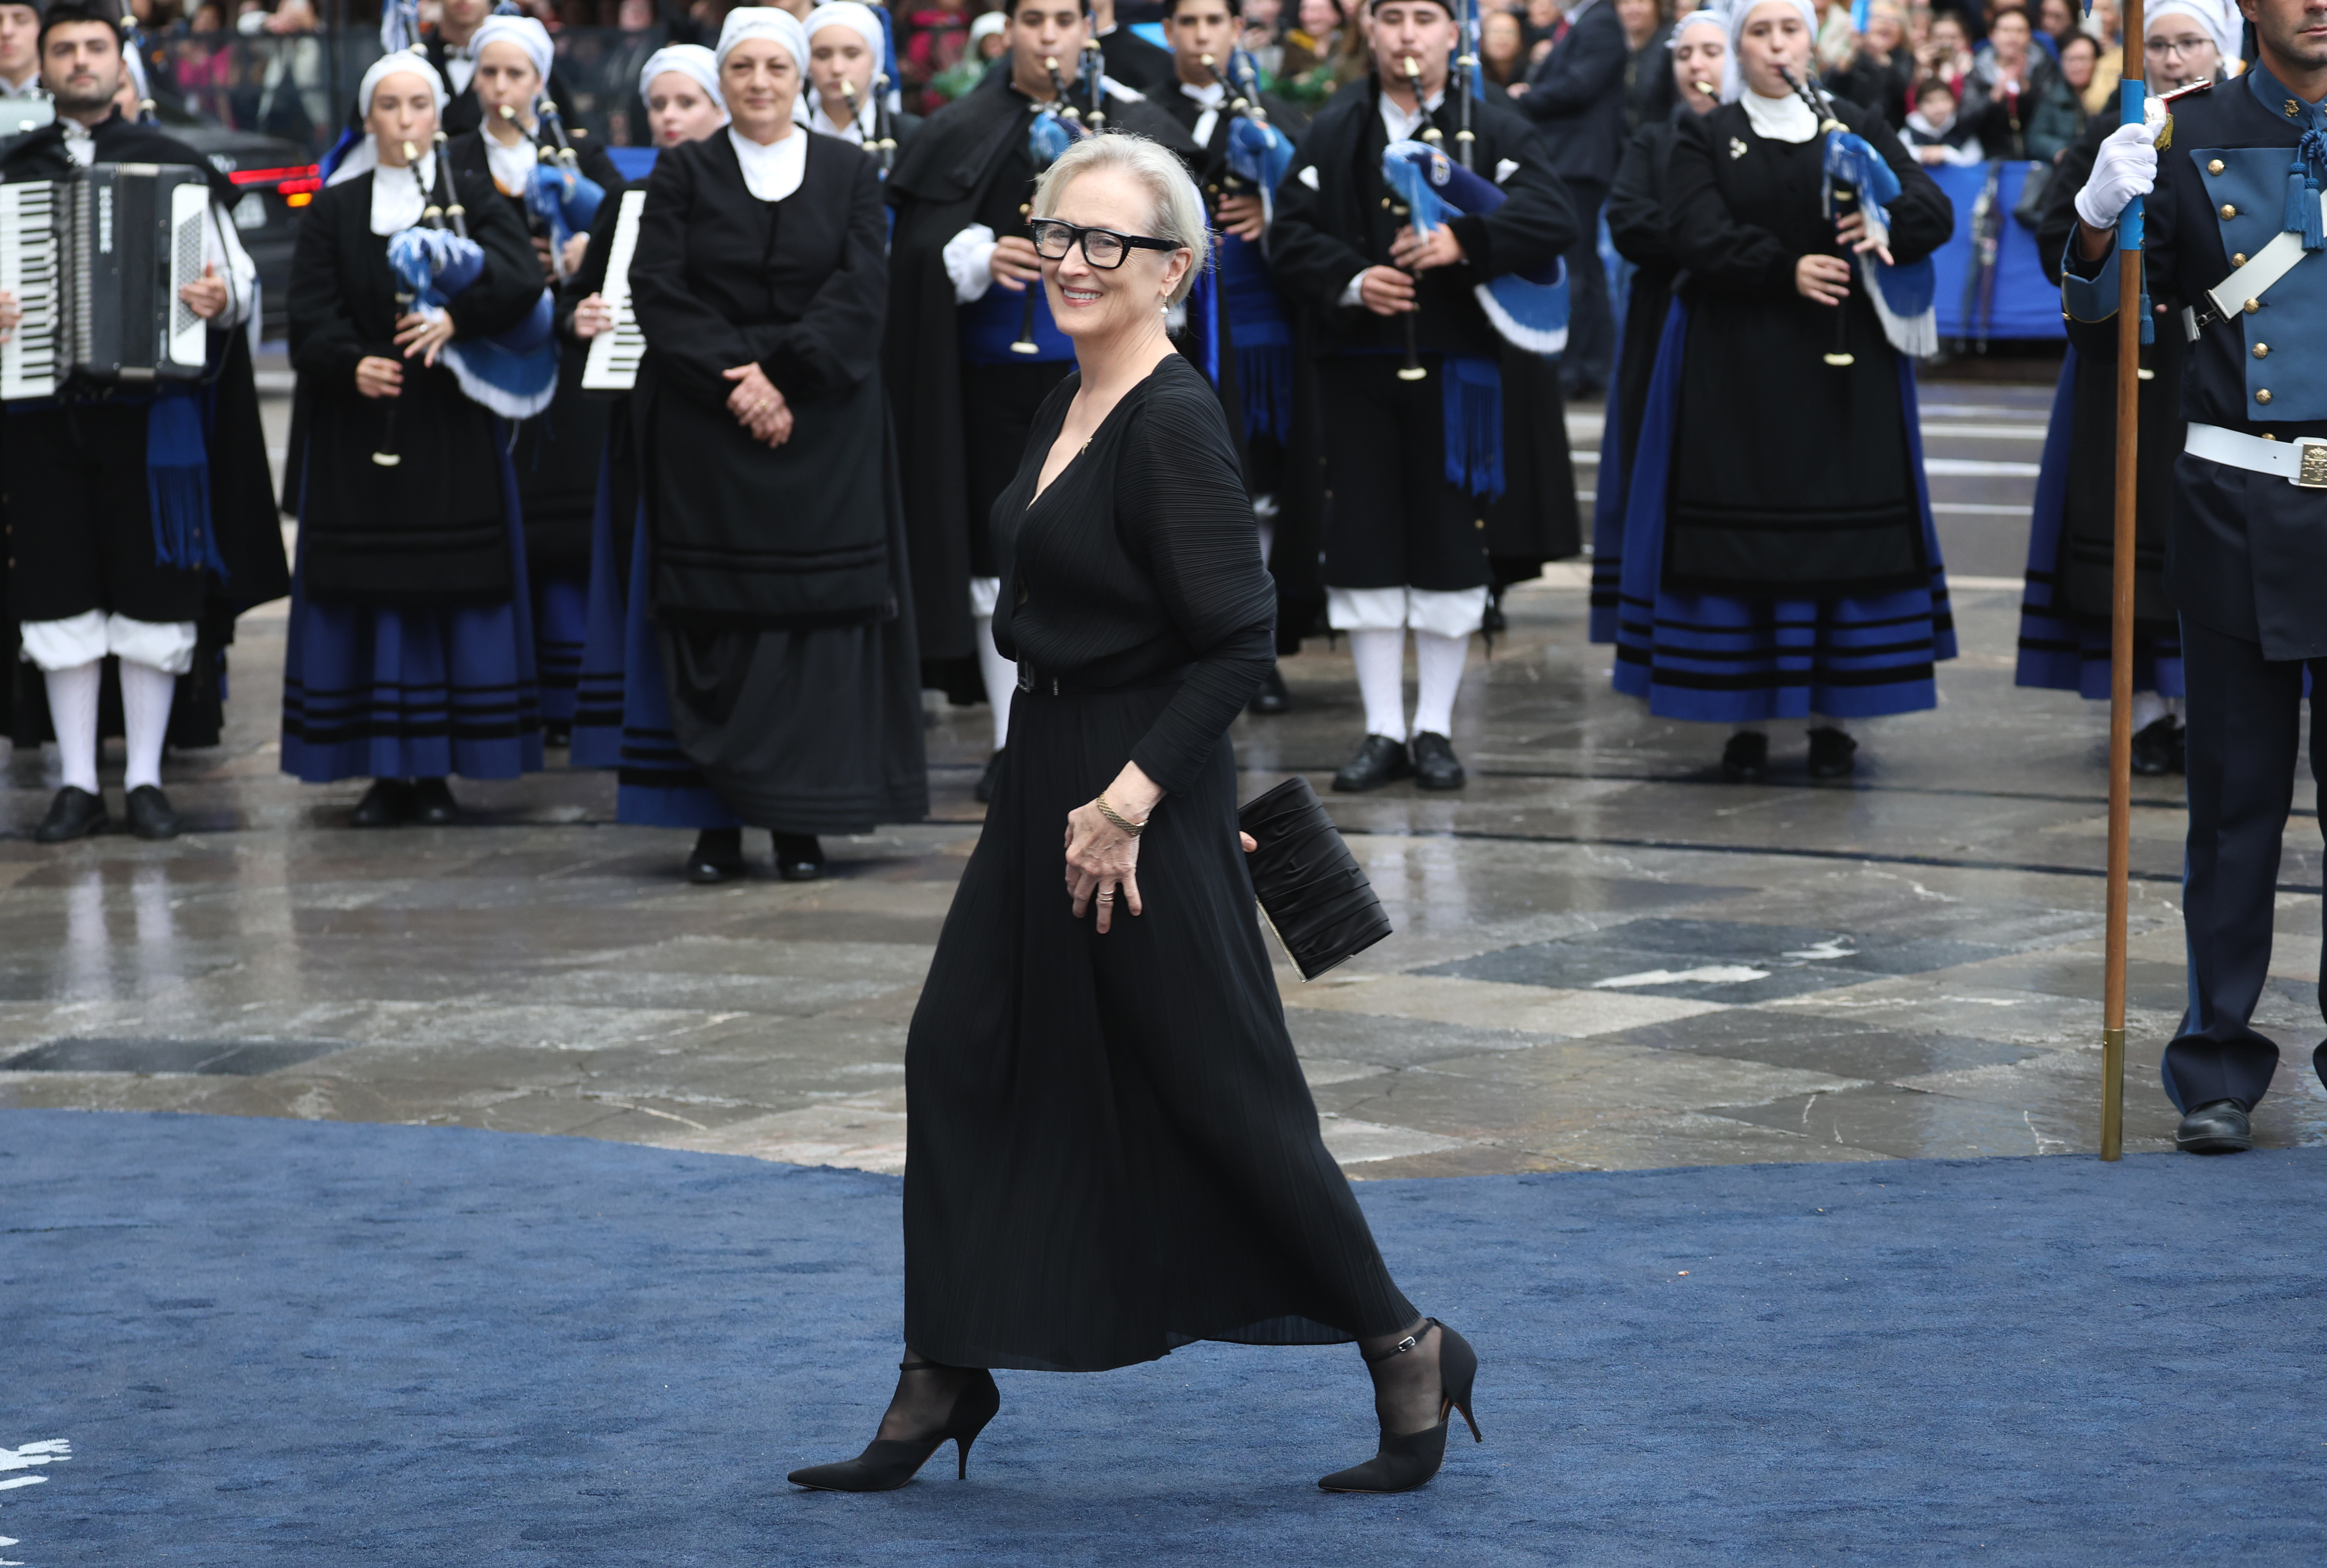
{"type": "MultiPolygon", "coordinates": [[[[717,60],[731,123],[656,156],[631,261],[638,589],[679,749],[803,882],[819,833],[928,814],[880,379],[887,214],[873,161],[791,119],[798,21],[728,12],[717,60]]],[[[742,828],[705,828],[693,863],[740,875],[742,828]]]]}

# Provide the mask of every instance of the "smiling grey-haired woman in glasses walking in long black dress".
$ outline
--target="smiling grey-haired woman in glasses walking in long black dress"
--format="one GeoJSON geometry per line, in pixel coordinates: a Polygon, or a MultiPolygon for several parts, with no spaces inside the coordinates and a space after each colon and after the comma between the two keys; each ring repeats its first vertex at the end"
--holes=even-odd
{"type": "Polygon", "coordinates": [[[984,1368],[1357,1340],[1380,1452],[1319,1484],[1406,1491],[1478,1359],[1392,1282],[1319,1138],[1238,851],[1226,730],[1275,589],[1219,398],[1164,335],[1203,205],[1164,147],[1101,135],[1033,230],[1080,370],[994,505],[1019,689],[905,1045],[908,1352],[873,1445],[791,1480],[903,1487],[947,1438],[966,1466],[984,1368]]]}

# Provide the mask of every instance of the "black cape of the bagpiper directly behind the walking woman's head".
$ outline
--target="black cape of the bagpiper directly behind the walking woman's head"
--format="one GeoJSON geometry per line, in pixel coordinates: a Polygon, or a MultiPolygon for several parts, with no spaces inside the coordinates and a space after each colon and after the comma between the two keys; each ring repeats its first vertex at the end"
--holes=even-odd
{"type": "MultiPolygon", "coordinates": [[[[1108,98],[1108,123],[1194,151],[1180,123],[1140,98],[1108,98]]],[[[912,600],[921,658],[968,658],[970,526],[968,470],[961,447],[961,335],[945,242],[975,221],[987,188],[1012,147],[1024,147],[1029,100],[1005,70],[945,105],[889,174],[896,230],[889,240],[889,330],[882,377],[889,384],[896,442],[908,463],[905,540],[912,549],[912,600]]]]}

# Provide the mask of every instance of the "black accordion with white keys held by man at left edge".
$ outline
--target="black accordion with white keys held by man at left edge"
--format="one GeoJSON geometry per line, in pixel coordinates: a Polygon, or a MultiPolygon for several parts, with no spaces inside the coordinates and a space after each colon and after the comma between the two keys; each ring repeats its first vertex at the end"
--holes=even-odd
{"type": "Polygon", "coordinates": [[[179,298],[202,277],[202,170],[98,163],[0,184],[0,288],[23,321],[0,342],[0,400],[200,382],[207,323],[179,298]]]}

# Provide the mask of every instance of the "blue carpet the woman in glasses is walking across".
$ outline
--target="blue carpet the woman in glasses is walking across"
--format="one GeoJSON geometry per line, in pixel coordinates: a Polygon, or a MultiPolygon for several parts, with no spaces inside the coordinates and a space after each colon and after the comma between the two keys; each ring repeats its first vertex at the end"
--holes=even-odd
{"type": "Polygon", "coordinates": [[[2318,1563],[2327,1149],[1361,1184],[1487,1447],[1336,1498],[1350,1349],[1003,1373],[970,1480],[798,1494],[896,1361],[898,1182],[0,1112],[0,1559],[2318,1563]],[[40,1484],[5,1489],[12,1480],[40,1484]]]}

